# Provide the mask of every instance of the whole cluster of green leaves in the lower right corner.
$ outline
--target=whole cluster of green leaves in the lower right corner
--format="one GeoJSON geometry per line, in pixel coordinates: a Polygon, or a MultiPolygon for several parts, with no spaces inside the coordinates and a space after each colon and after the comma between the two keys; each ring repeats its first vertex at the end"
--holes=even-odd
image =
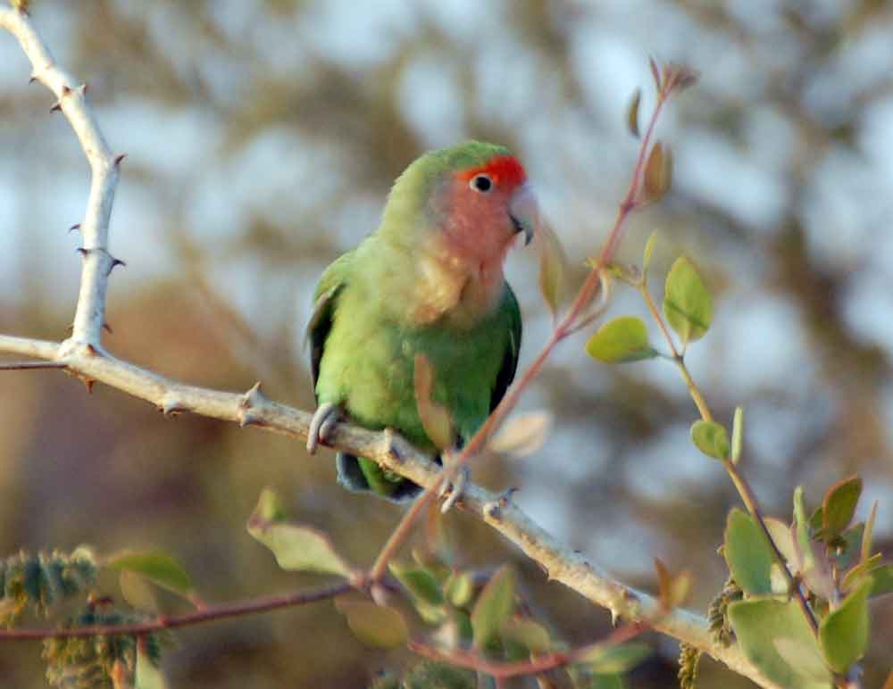
{"type": "Polygon", "coordinates": [[[827,687],[846,675],[868,644],[868,599],[893,592],[893,564],[872,554],[875,511],[853,523],[861,491],[859,477],[839,481],[810,515],[798,487],[792,522],[765,520],[781,561],[755,519],[729,514],[722,552],[744,599],[728,604],[728,622],[747,657],[780,685],[827,687]],[[781,567],[805,589],[817,634],[781,567]]]}

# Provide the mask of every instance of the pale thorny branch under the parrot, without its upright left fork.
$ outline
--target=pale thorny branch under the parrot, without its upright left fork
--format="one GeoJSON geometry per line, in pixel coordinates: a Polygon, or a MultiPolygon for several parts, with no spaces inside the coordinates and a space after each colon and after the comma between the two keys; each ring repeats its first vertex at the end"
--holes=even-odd
{"type": "MultiPolygon", "coordinates": [[[[263,394],[259,384],[245,394],[221,392],[183,385],[108,353],[79,350],[61,355],[62,351],[63,345],[60,343],[0,336],[0,352],[40,353],[50,361],[65,361],[66,369],[71,373],[153,403],[165,414],[189,411],[302,440],[306,439],[313,418],[306,411],[272,402],[263,394]]],[[[385,468],[420,486],[432,486],[439,480],[440,467],[393,433],[339,423],[327,436],[327,443],[340,451],[378,461],[385,468]]],[[[456,504],[521,548],[546,570],[550,579],[611,610],[614,617],[632,621],[656,618],[653,627],[657,631],[695,646],[759,685],[772,686],[759,675],[737,646],[725,647],[714,641],[705,618],[686,610],[673,610],[661,615],[660,602],[654,597],[608,577],[580,553],[555,540],[505,495],[493,494],[469,484],[456,504]]]]}

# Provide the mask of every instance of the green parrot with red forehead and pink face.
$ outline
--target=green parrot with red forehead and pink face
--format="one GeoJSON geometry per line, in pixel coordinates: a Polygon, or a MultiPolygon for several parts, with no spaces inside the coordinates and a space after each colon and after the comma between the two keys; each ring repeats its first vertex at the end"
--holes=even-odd
{"type": "MultiPolygon", "coordinates": [[[[415,355],[430,361],[432,399],[457,444],[480,428],[514,378],[521,311],[503,276],[519,233],[537,231],[536,198],[503,146],[470,141],[422,155],[396,179],[380,226],[323,272],[307,328],[316,400],[307,450],[334,420],[393,428],[423,451],[415,355]]],[[[339,452],[338,480],[400,502],[420,488],[339,452]]]]}

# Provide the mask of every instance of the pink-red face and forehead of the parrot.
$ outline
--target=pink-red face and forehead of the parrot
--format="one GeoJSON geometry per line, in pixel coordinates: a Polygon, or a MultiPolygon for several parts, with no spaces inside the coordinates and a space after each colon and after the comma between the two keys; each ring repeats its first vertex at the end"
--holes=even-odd
{"type": "Polygon", "coordinates": [[[525,217],[513,212],[520,208],[522,197],[533,203],[526,183],[527,173],[512,155],[455,172],[447,187],[447,221],[442,228],[448,251],[482,271],[501,269],[515,235],[532,229],[526,217],[529,210],[525,209],[525,217]]]}

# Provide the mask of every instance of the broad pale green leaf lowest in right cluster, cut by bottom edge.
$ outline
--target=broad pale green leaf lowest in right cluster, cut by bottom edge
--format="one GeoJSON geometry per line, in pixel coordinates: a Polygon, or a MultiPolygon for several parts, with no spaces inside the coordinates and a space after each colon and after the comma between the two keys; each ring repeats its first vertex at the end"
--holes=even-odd
{"type": "Polygon", "coordinates": [[[741,650],[767,679],[797,689],[830,689],[831,674],[797,602],[731,602],[729,619],[741,650]]]}

